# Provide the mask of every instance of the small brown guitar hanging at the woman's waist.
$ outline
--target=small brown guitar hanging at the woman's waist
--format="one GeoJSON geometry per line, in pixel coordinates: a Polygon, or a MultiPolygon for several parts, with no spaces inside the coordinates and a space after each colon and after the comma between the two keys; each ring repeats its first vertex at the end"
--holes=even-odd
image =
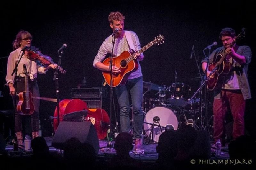
{"type": "Polygon", "coordinates": [[[35,111],[35,106],[32,100],[32,93],[28,89],[28,71],[26,64],[23,64],[23,74],[25,74],[25,91],[19,93],[19,102],[17,111],[21,115],[32,115],[35,111]]]}

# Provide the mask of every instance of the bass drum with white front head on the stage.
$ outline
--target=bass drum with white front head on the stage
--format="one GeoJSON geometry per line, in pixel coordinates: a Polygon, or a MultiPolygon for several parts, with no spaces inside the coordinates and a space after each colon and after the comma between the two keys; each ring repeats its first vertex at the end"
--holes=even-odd
{"type": "MultiPolygon", "coordinates": [[[[183,111],[178,107],[173,106],[162,106],[158,105],[146,113],[144,117],[143,130],[146,135],[150,136],[152,124],[154,124],[154,142],[158,142],[159,136],[161,135],[161,129],[158,123],[154,123],[154,117],[159,117],[159,124],[162,132],[165,130],[177,130],[182,123],[187,123],[187,118],[183,111]],[[158,125],[158,126],[155,126],[158,125]]],[[[152,137],[150,137],[150,140],[152,137]]]]}

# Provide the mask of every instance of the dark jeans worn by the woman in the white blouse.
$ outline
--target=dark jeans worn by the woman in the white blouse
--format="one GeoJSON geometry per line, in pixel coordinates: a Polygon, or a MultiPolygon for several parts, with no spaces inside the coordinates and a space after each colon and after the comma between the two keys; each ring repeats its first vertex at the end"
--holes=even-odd
{"type": "MultiPolygon", "coordinates": [[[[40,96],[39,93],[39,88],[36,82],[36,79],[34,79],[34,81],[31,81],[28,78],[28,89],[29,91],[32,93],[32,96],[40,96]]],[[[21,78],[20,81],[18,81],[17,83],[17,89],[16,89],[16,94],[19,94],[20,92],[25,91],[25,78],[21,78]]],[[[15,97],[13,96],[13,104],[15,102],[15,97]]],[[[30,122],[31,124],[31,131],[32,132],[36,132],[39,131],[39,106],[40,106],[40,100],[39,99],[32,99],[34,106],[35,106],[35,111],[32,115],[20,115],[20,113],[17,112],[17,104],[19,102],[19,97],[16,97],[16,105],[15,105],[15,109],[16,109],[16,113],[15,113],[15,132],[20,132],[23,130],[22,128],[22,119],[23,118],[30,118],[30,121],[27,120],[26,125],[28,125],[28,123],[30,122]]],[[[28,133],[27,129],[30,129],[29,127],[26,128],[26,133],[28,133]]]]}

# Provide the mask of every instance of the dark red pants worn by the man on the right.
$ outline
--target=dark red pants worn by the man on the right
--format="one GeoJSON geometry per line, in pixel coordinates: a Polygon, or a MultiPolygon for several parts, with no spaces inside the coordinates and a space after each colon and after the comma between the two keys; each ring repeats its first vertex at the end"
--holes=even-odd
{"type": "Polygon", "coordinates": [[[220,139],[222,146],[225,145],[225,126],[224,120],[226,111],[230,109],[233,123],[233,139],[244,134],[244,112],[245,100],[241,90],[222,89],[220,99],[214,99],[213,102],[213,138],[215,141],[220,139]]]}

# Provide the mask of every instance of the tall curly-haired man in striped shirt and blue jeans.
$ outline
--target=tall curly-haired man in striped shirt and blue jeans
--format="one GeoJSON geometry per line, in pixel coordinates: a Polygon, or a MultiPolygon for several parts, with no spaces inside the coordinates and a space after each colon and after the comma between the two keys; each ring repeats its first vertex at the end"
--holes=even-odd
{"type": "MultiPolygon", "coordinates": [[[[136,60],[143,60],[143,53],[137,53],[140,50],[140,41],[137,34],[133,31],[124,31],[124,15],[120,12],[111,12],[108,16],[108,21],[113,34],[108,36],[95,56],[93,67],[102,71],[109,71],[109,66],[102,63],[107,53],[112,53],[113,41],[115,38],[113,57],[119,56],[124,51],[136,52],[136,60]],[[114,36],[115,35],[115,36],[114,36]]],[[[139,63],[139,62],[138,62],[139,63]]],[[[120,69],[113,65],[112,73],[120,73],[120,69]]],[[[125,85],[118,85],[115,87],[118,104],[120,106],[120,124],[122,132],[130,132],[130,104],[129,94],[131,94],[132,108],[133,108],[133,138],[135,140],[135,150],[141,149],[141,133],[143,127],[143,111],[142,111],[142,98],[143,98],[143,80],[140,68],[133,71],[125,85]]],[[[111,113],[110,113],[111,114],[111,113]]]]}

